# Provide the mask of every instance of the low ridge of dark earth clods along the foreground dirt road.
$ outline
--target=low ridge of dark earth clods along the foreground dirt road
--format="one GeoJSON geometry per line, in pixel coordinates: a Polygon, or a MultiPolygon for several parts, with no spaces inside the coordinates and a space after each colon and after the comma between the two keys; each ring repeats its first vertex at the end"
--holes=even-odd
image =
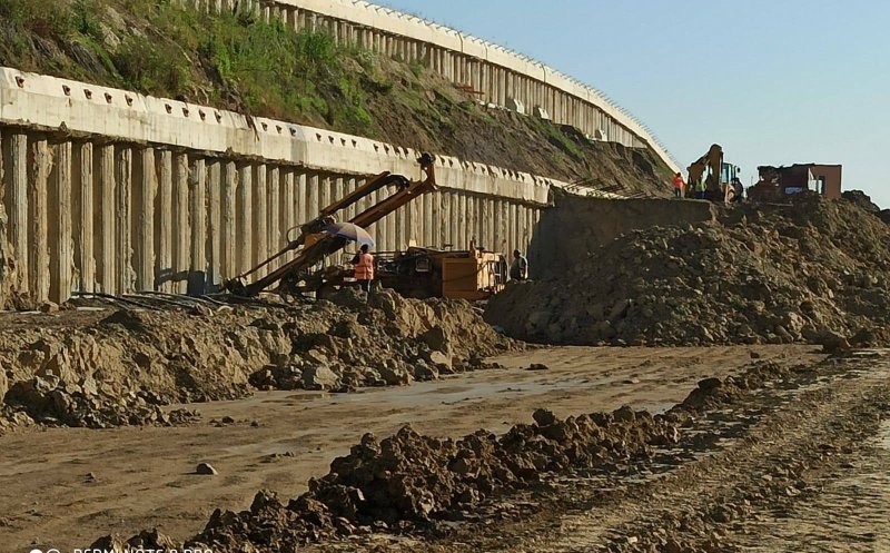
{"type": "Polygon", "coordinates": [[[285,504],[260,492],[248,511],[217,510],[188,545],[290,551],[334,534],[428,527],[462,520],[486,497],[527,488],[546,473],[646,458],[653,445],[680,440],[665,418],[630,407],[565,419],[538,409],[534,419],[500,437],[478,431],[438,440],[408,426],[383,441],[367,434],[306,494],[285,504]]]}

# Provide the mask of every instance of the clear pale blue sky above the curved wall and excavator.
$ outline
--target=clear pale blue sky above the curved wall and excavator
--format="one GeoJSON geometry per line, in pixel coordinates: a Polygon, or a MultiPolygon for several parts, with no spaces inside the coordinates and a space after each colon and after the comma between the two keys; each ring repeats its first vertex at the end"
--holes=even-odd
{"type": "Polygon", "coordinates": [[[386,0],[531,56],[646,124],[685,168],[842,164],[890,207],[887,0],[386,0]]]}

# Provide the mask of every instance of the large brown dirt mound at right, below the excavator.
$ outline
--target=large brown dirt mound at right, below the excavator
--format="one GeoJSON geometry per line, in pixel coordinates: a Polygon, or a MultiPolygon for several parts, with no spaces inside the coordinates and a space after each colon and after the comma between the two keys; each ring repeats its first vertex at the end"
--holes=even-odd
{"type": "Polygon", "coordinates": [[[485,318],[552,344],[821,343],[829,329],[887,343],[890,228],[810,195],[725,209],[624,234],[561,278],[508,286],[485,318]]]}

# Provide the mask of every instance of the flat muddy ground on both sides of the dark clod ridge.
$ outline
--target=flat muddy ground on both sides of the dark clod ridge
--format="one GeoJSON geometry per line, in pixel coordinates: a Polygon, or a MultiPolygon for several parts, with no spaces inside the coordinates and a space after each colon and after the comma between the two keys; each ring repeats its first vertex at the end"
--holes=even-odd
{"type": "Polygon", "coordinates": [[[411,423],[441,437],[498,433],[531,422],[542,406],[561,417],[625,404],[660,413],[702,378],[743,373],[752,357],[815,368],[780,374],[702,412],[694,428],[683,428],[685,442],[651,462],[544,475],[533,488],[483,504],[481,520],[432,533],[315,546],[671,551],[670,539],[711,547],[702,551],[882,551],[890,492],[880,421],[890,363],[825,362],[808,346],[535,349],[497,358],[502,369],[407,388],[263,392],[189,405],[201,417],[179,427],[22,428],[0,438],[0,542],[9,551],[70,549],[149,527],[181,542],[214,508],[246,508],[258,490],[283,498],[303,493],[366,432],[387,436],[411,423]],[[550,368],[527,371],[532,363],[550,368]],[[199,462],[219,474],[191,474],[199,462]],[[718,507],[728,512],[715,514],[718,507]],[[812,540],[821,545],[800,547],[812,540]]]}

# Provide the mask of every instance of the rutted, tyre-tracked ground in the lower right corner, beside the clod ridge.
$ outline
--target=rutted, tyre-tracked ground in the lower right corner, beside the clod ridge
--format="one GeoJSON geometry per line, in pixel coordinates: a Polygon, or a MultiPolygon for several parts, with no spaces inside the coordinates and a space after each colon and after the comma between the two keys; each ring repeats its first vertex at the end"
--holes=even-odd
{"type": "Polygon", "coordinates": [[[704,413],[685,443],[711,446],[694,457],[663,452],[672,467],[563,476],[534,514],[421,542],[364,537],[348,550],[888,551],[890,358],[834,363],[704,413]],[[690,440],[696,433],[710,440],[690,440]]]}

